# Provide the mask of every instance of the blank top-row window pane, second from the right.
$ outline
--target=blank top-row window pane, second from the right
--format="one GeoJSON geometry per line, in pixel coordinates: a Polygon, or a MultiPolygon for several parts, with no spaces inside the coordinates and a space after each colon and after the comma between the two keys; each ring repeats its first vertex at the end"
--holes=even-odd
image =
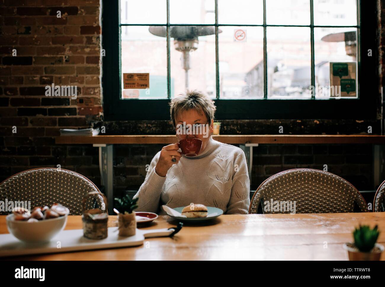
{"type": "Polygon", "coordinates": [[[309,0],[267,0],[268,25],[310,25],[309,0]]]}

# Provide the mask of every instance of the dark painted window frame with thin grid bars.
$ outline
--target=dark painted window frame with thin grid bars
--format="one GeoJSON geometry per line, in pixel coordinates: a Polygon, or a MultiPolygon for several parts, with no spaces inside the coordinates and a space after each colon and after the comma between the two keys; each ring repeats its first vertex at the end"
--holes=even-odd
{"type": "MultiPolygon", "coordinates": [[[[169,2],[169,0],[166,0],[169,2]]],[[[266,0],[263,0],[266,10],[266,0]]],[[[145,99],[121,99],[121,32],[120,32],[120,1],[102,0],[102,47],[105,56],[102,56],[102,91],[104,119],[112,121],[122,120],[169,120],[170,99],[145,100],[145,99]],[[146,112],[143,112],[146,111],[146,112]]],[[[218,7],[218,0],[215,0],[218,7]]],[[[167,3],[167,7],[168,3],[167,3]]],[[[264,28],[264,55],[266,55],[266,27],[343,27],[343,26],[315,26],[313,25],[313,0],[310,0],[311,23],[310,25],[266,25],[266,13],[264,24],[254,25],[264,28]]],[[[267,70],[264,69],[264,98],[262,99],[218,99],[219,96],[219,59],[218,37],[216,37],[216,119],[375,119],[377,116],[378,96],[378,71],[377,71],[377,14],[375,1],[365,2],[357,0],[357,99],[268,99],[267,96],[267,70]],[[368,49],[372,49],[372,56],[367,56],[368,49]],[[363,72],[365,71],[365,72],[363,72]],[[363,91],[362,83],[365,85],[363,91]]],[[[167,23],[169,22],[169,10],[167,9],[167,23]]],[[[147,26],[148,24],[142,24],[147,26]]],[[[153,24],[151,24],[153,25],[153,24]]],[[[186,24],[183,24],[186,25],[186,24]]],[[[196,25],[196,24],[192,24],[196,25]]],[[[212,24],[201,24],[213,26],[212,24]]],[[[159,24],[159,26],[166,26],[159,24]]],[[[174,24],[169,24],[174,26],[174,24]]],[[[215,27],[218,24],[216,13],[215,27]]],[[[227,25],[237,26],[237,25],[227,25]]],[[[252,25],[238,25],[252,26],[252,25]]],[[[346,26],[348,27],[348,26],[346,26]]],[[[349,26],[351,27],[351,26],[349,26]]],[[[311,30],[311,81],[314,81],[314,35],[311,30]]],[[[167,62],[170,66],[170,38],[167,37],[167,62]]],[[[266,56],[264,63],[266,65],[266,56]]],[[[170,68],[167,69],[168,96],[170,97],[171,81],[170,68]]],[[[192,88],[192,87],[191,87],[192,88]]]]}

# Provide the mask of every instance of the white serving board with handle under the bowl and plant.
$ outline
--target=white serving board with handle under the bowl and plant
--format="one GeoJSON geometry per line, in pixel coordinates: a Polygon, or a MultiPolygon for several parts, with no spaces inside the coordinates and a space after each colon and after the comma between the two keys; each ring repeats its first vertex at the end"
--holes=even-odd
{"type": "Polygon", "coordinates": [[[0,234],[0,257],[139,246],[143,244],[144,238],[169,236],[172,232],[174,229],[136,229],[134,236],[120,237],[117,227],[108,227],[107,238],[88,239],[83,236],[83,229],[73,229],[59,232],[46,243],[27,243],[12,234],[0,234]]]}

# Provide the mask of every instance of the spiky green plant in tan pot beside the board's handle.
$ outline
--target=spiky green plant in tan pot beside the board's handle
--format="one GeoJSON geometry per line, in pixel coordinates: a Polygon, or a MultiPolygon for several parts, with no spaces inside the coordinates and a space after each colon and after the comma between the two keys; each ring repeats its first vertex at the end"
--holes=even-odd
{"type": "Polygon", "coordinates": [[[136,199],[130,199],[128,194],[120,198],[115,198],[118,207],[118,227],[119,236],[132,236],[136,234],[135,211],[138,206],[136,199]]]}

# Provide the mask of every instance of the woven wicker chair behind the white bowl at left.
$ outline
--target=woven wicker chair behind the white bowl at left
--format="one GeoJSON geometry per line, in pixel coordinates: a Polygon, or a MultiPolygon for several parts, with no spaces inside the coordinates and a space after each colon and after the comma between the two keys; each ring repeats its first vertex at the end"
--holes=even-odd
{"type": "MultiPolygon", "coordinates": [[[[82,214],[82,199],[90,191],[99,189],[92,181],[81,174],[67,169],[37,168],[23,171],[5,179],[0,184],[0,201],[30,201],[31,209],[35,206],[51,206],[60,203],[68,207],[70,214],[82,214]]],[[[100,208],[106,209],[103,196],[100,208]]],[[[88,202],[87,209],[95,207],[95,202],[88,202]]],[[[1,215],[10,212],[0,211],[1,215]]]]}

